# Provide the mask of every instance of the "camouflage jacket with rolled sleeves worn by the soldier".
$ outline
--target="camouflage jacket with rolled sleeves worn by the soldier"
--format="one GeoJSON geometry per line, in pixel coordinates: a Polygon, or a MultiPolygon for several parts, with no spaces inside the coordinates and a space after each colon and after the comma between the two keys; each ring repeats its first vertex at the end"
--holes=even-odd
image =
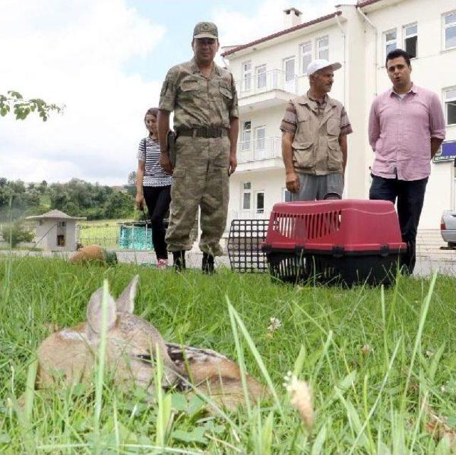
{"type": "Polygon", "coordinates": [[[237,93],[232,73],[214,63],[204,78],[195,59],[173,66],[160,93],[159,109],[174,110],[175,127],[229,127],[238,117],[237,93]]]}

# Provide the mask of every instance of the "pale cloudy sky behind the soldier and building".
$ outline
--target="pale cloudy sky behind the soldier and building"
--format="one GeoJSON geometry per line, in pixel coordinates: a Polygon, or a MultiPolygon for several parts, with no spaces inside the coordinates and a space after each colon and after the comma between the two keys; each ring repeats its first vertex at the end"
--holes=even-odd
{"type": "MultiPolygon", "coordinates": [[[[197,21],[217,23],[221,46],[303,21],[340,0],[0,0],[0,93],[66,105],[63,115],[0,117],[0,177],[124,184],[137,167],[145,110],[167,70],[192,57],[197,21]]],[[[348,3],[356,3],[350,0],[348,3]]]]}

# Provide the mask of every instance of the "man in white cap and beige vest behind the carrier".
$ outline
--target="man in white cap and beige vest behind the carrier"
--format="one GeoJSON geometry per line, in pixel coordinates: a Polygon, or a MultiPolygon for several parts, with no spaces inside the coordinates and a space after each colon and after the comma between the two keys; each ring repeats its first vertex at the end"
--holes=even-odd
{"type": "Polygon", "coordinates": [[[342,197],[347,135],[352,132],[342,103],[328,96],[341,63],[314,60],[307,67],[309,91],[286,106],[280,129],[286,189],[292,201],[342,197]]]}

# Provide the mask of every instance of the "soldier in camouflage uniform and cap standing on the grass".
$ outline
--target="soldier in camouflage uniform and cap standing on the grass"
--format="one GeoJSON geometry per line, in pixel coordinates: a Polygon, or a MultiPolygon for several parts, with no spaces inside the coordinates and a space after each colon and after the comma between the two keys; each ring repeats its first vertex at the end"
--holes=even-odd
{"type": "Polygon", "coordinates": [[[166,242],[175,268],[182,270],[199,206],[202,270],[212,273],[214,256],[223,253],[219,241],[227,224],[229,175],[237,166],[237,93],[232,74],[214,63],[219,48],[214,23],[197,23],[192,48],[194,58],[168,71],[160,93],[161,164],[174,177],[166,242]],[[165,145],[172,110],[177,132],[174,169],[165,145]]]}

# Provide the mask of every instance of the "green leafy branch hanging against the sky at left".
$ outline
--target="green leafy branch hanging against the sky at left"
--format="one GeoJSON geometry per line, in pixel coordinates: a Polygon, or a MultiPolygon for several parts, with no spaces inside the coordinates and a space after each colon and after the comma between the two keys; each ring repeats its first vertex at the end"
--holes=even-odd
{"type": "Polygon", "coordinates": [[[24,100],[19,92],[8,90],[7,95],[0,94],[0,115],[5,117],[6,114],[13,110],[16,115],[16,120],[25,120],[28,114],[38,113],[43,122],[46,122],[51,111],[56,113],[63,112],[65,106],[58,106],[56,104],[48,104],[40,98],[32,98],[31,100],[24,100]]]}

